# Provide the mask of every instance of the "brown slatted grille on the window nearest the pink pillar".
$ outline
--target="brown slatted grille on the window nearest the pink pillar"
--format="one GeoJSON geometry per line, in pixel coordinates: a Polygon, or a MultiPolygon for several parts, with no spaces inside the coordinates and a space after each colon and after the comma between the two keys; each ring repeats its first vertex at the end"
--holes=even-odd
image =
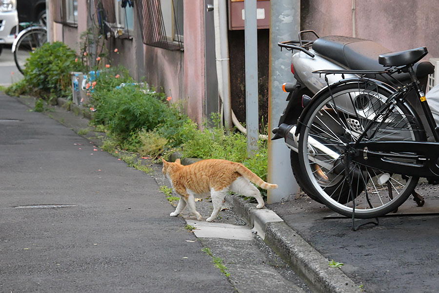
{"type": "MultiPolygon", "coordinates": [[[[174,8],[174,1],[172,5],[174,8]]],[[[163,15],[161,12],[160,0],[137,0],[136,10],[140,22],[140,31],[142,33],[142,41],[144,44],[159,47],[168,50],[182,50],[183,42],[178,38],[177,42],[168,41],[166,37],[163,15]]],[[[174,24],[176,23],[176,14],[174,11],[174,24]]],[[[182,28],[175,25],[176,35],[182,35],[182,28]],[[180,32],[181,30],[181,32],[180,32]]]]}

